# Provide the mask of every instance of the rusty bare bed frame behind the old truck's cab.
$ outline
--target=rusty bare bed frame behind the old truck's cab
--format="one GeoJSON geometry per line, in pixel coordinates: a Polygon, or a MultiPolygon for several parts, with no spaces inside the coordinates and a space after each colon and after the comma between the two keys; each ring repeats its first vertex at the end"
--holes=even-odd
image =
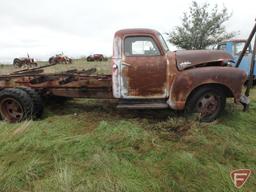
{"type": "Polygon", "coordinates": [[[96,68],[44,73],[43,68],[53,65],[2,75],[0,76],[0,89],[29,87],[46,95],[97,99],[113,98],[111,75],[96,75],[96,68]]]}

